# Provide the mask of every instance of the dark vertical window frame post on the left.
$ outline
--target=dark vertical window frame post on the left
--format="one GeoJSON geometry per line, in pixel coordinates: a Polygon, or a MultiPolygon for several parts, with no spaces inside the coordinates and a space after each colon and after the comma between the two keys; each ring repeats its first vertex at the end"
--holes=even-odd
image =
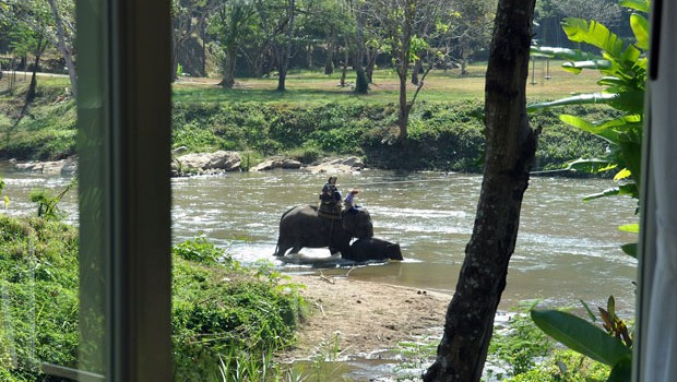
{"type": "Polygon", "coordinates": [[[173,380],[169,10],[76,0],[81,381],[173,380]]]}

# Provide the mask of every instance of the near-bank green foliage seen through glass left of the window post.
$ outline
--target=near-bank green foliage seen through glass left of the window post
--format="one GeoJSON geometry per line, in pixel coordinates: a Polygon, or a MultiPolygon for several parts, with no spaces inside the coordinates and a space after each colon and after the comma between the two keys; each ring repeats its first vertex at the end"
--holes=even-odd
{"type": "Polygon", "coordinates": [[[78,231],[0,215],[0,379],[46,380],[39,362],[76,368],[78,231]]]}

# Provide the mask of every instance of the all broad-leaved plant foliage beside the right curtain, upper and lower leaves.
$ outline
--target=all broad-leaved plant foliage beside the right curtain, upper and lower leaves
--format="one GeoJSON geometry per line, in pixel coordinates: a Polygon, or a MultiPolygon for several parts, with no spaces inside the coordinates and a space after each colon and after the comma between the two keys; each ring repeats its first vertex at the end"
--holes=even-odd
{"type": "MultiPolygon", "coordinates": [[[[622,1],[621,5],[644,12],[649,10],[648,0],[622,1]]],[[[598,70],[605,76],[597,83],[605,86],[605,91],[531,106],[532,110],[536,110],[560,105],[603,103],[619,111],[617,117],[601,121],[590,121],[574,115],[560,116],[563,122],[599,136],[608,142],[610,147],[606,157],[579,159],[573,162],[569,168],[591,172],[615,170],[614,179],[622,181],[617,188],[586,196],[585,200],[623,194],[640,199],[638,184],[641,182],[649,22],[644,15],[632,13],[630,24],[636,37],[634,44],[623,43],[595,21],[567,19],[562,26],[569,39],[598,48],[602,57],[568,62],[566,68],[574,73],[583,69],[598,70]]],[[[538,49],[534,50],[538,51],[538,49]]],[[[557,57],[558,53],[571,56],[572,51],[562,52],[549,49],[541,50],[539,53],[551,53],[551,57],[557,57]]],[[[579,52],[573,52],[573,55],[579,52]]],[[[625,244],[621,249],[630,255],[637,254],[634,243],[625,244]]],[[[594,319],[590,309],[586,306],[585,308],[594,319]]],[[[608,299],[607,309],[599,308],[598,310],[606,332],[594,323],[557,310],[532,311],[532,319],[538,327],[570,349],[611,367],[608,381],[630,381],[632,339],[628,327],[616,315],[613,297],[608,299]]]]}

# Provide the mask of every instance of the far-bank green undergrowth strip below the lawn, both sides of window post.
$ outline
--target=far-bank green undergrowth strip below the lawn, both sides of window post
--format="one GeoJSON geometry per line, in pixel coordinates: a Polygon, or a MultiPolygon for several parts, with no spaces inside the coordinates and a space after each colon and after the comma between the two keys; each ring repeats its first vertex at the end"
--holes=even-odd
{"type": "MultiPolygon", "coordinates": [[[[75,154],[75,102],[64,98],[62,83],[40,80],[38,98],[19,118],[23,92],[0,96],[0,158],[60,159],[75,154]]],[[[409,139],[397,141],[395,103],[356,102],[325,95],[309,105],[285,97],[264,102],[203,86],[181,88],[173,110],[173,146],[190,152],[217,150],[247,153],[248,168],[273,155],[310,164],[325,156],[358,155],[369,167],[404,170],[479,172],[484,162],[484,100],[468,95],[421,100],[412,109],[409,139]]],[[[257,91],[261,92],[261,91],[257,91]]],[[[536,102],[536,100],[534,100],[536,102]]],[[[603,157],[602,139],[566,127],[560,112],[603,120],[614,111],[604,106],[578,106],[530,115],[541,127],[534,170],[555,170],[580,157],[603,157]]]]}

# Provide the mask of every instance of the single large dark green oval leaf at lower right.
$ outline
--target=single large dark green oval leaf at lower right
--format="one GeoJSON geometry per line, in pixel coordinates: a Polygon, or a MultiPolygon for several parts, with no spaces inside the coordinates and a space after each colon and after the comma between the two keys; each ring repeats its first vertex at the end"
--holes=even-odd
{"type": "Polygon", "coordinates": [[[532,310],[534,323],[570,349],[608,366],[616,366],[632,351],[592,323],[558,310],[532,310]]]}

